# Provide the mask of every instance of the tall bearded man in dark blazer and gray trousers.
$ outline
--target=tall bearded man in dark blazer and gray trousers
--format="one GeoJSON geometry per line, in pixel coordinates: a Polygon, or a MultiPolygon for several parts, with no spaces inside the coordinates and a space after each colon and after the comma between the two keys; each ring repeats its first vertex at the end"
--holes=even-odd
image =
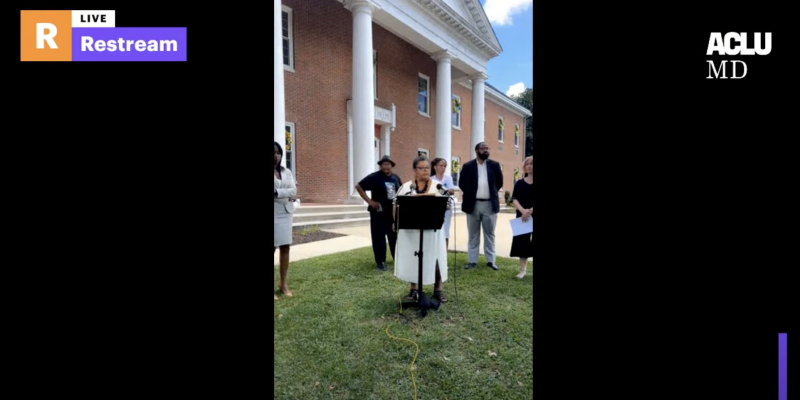
{"type": "Polygon", "coordinates": [[[475,155],[476,159],[464,163],[458,177],[458,186],[462,192],[461,211],[467,214],[469,231],[469,251],[464,268],[475,268],[478,265],[478,246],[483,228],[483,252],[487,266],[497,271],[494,228],[497,224],[497,213],[500,212],[497,192],[503,187],[503,171],[498,162],[489,159],[489,146],[486,143],[481,142],[475,146],[475,155]]]}

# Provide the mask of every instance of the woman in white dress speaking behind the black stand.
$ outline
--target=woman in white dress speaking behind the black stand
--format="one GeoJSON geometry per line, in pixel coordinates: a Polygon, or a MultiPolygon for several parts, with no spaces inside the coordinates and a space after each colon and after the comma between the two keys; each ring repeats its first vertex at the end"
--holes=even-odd
{"type": "MultiPolygon", "coordinates": [[[[427,157],[417,157],[412,164],[414,179],[403,184],[397,191],[398,196],[441,196],[436,182],[431,179],[431,164],[427,157]]],[[[448,205],[448,209],[449,209],[448,205]]],[[[397,210],[393,215],[397,216],[397,210]]],[[[403,214],[400,218],[414,218],[414,215],[403,214]]],[[[395,229],[397,223],[395,223],[395,229]]],[[[445,232],[442,229],[422,231],[422,284],[433,284],[433,298],[440,303],[446,303],[447,297],[442,291],[442,282],[447,280],[447,247],[445,246],[445,232]],[[432,268],[436,266],[435,270],[432,268]]],[[[406,300],[418,301],[419,291],[419,261],[416,252],[419,251],[418,230],[402,229],[397,232],[397,248],[394,262],[394,275],[404,282],[411,284],[411,291],[406,300]]]]}

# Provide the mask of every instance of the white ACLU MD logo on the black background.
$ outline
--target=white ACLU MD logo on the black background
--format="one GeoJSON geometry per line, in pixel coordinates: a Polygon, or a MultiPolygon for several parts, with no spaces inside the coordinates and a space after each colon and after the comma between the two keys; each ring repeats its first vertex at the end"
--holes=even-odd
{"type": "MultiPolygon", "coordinates": [[[[772,33],[756,32],[749,36],[746,32],[728,32],[722,36],[721,32],[712,32],[708,39],[708,50],[706,55],[714,54],[720,56],[766,56],[772,51],[772,33]],[[749,39],[753,40],[752,45],[749,39]],[[734,45],[734,43],[736,43],[734,45]]],[[[747,63],[742,60],[721,60],[719,66],[714,61],[707,60],[708,77],[706,79],[729,79],[726,73],[726,66],[730,62],[730,79],[742,79],[747,76],[747,63]],[[736,66],[741,64],[741,70],[737,71],[736,66]],[[741,75],[737,75],[739,72],[741,75]]]]}

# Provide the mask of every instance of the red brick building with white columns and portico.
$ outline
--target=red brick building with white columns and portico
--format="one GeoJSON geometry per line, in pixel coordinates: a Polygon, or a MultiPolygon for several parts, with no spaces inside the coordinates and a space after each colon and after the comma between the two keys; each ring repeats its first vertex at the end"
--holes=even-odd
{"type": "Polygon", "coordinates": [[[273,131],[303,201],[359,203],[381,156],[406,181],[420,152],[452,167],[481,141],[511,191],[530,112],[485,83],[502,49],[478,0],[273,1],[273,131]]]}

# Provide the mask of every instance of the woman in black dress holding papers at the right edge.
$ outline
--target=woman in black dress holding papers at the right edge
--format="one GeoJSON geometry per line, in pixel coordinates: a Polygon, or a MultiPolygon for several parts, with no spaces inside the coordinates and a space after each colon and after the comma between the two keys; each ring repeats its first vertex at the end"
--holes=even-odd
{"type": "MultiPolygon", "coordinates": [[[[514,184],[512,202],[517,209],[517,218],[527,222],[533,218],[533,157],[525,158],[522,163],[524,178],[514,184]]],[[[511,257],[519,257],[519,274],[517,279],[522,279],[528,273],[528,258],[533,258],[533,232],[527,235],[514,236],[511,242],[511,257]]]]}

